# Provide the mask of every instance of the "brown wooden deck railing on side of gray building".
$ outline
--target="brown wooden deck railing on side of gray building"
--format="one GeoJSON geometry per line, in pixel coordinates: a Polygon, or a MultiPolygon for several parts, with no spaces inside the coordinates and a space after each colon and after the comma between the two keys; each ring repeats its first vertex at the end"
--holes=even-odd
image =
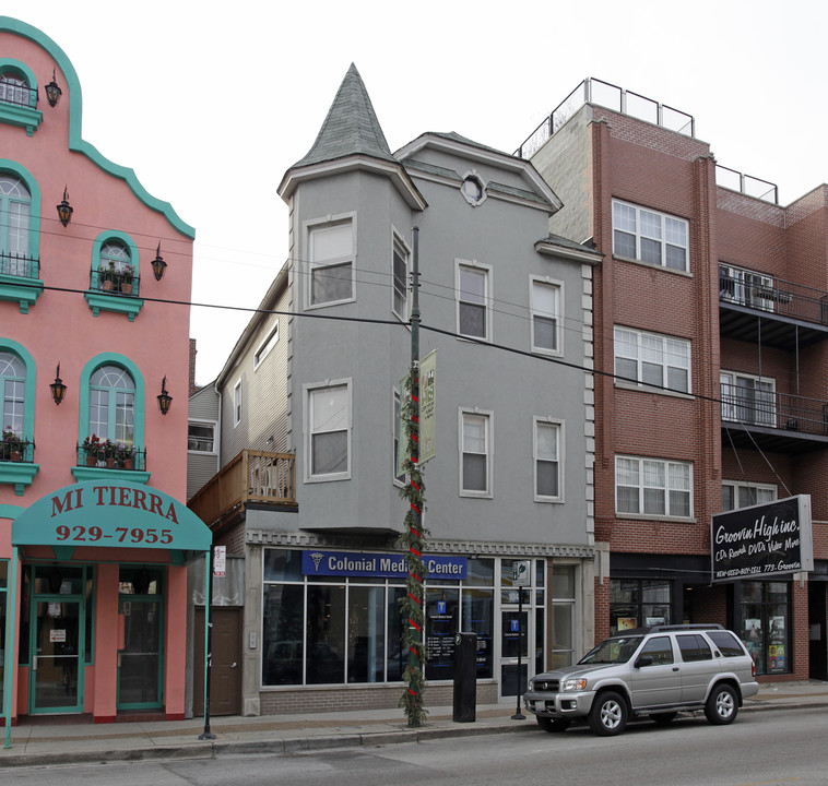
{"type": "Polygon", "coordinates": [[[241,451],[193,495],[188,508],[210,525],[248,502],[296,504],[293,453],[241,451]]]}

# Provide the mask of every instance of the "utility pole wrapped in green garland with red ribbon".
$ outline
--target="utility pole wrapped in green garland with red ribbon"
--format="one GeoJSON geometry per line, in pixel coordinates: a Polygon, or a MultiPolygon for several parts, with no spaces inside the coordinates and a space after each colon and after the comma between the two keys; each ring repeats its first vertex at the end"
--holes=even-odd
{"type": "Polygon", "coordinates": [[[409,548],[409,575],[405,580],[406,596],[402,599],[403,618],[407,616],[405,642],[409,648],[409,665],[403,674],[405,693],[402,706],[409,718],[409,726],[421,726],[426,717],[423,705],[425,691],[426,650],[425,631],[425,565],[423,548],[425,533],[423,531],[423,508],[425,500],[425,484],[419,469],[419,228],[413,230],[412,254],[412,298],[411,298],[411,369],[406,378],[406,390],[403,391],[402,410],[407,431],[407,454],[403,462],[407,481],[402,496],[409,501],[405,514],[405,533],[403,544],[409,548]]]}

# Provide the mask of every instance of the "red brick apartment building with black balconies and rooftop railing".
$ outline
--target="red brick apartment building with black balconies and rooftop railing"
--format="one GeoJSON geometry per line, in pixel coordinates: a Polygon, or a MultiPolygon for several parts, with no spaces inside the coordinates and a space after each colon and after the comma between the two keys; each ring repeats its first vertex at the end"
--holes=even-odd
{"type": "Polygon", "coordinates": [[[519,154],[564,202],[552,231],[604,254],[596,638],[717,621],[766,679],[826,679],[828,186],[783,207],[719,166],[690,116],[596,80],[519,154]],[[796,495],[814,570],[711,582],[711,516],[796,495]]]}

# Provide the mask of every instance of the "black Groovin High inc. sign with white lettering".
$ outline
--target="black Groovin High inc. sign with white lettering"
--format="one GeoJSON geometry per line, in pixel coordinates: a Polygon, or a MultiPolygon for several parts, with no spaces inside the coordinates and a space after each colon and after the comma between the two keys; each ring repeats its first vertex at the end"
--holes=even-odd
{"type": "Polygon", "coordinates": [[[712,516],[710,548],[713,582],[814,570],[811,496],[712,516]]]}

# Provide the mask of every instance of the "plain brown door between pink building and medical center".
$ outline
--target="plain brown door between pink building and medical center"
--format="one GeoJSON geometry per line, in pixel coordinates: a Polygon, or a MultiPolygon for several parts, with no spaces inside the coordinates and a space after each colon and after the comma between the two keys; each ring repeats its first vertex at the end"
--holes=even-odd
{"type": "MultiPolygon", "coordinates": [[[[213,664],[210,677],[210,715],[238,715],[241,712],[241,609],[214,606],[213,664]]],[[[196,608],[196,663],[192,680],[192,712],[204,714],[204,609],[196,608]]]]}

